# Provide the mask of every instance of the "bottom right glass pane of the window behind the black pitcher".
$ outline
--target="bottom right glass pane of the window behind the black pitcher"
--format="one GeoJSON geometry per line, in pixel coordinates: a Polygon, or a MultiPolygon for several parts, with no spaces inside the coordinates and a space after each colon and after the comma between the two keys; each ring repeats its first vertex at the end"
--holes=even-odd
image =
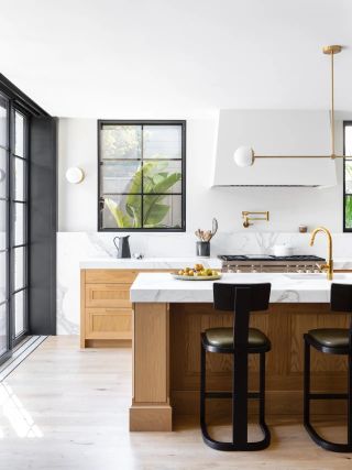
{"type": "Polygon", "coordinates": [[[182,196],[144,196],[143,227],[180,228],[182,196]]]}

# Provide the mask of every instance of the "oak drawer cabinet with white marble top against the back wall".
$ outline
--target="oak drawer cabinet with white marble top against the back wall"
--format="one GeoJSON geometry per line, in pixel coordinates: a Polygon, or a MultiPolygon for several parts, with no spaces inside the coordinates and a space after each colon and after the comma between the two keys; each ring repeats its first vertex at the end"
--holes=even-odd
{"type": "MultiPolygon", "coordinates": [[[[80,262],[80,346],[119,347],[132,343],[130,288],[139,273],[172,272],[199,262],[197,258],[80,262]]],[[[206,267],[220,269],[218,259],[201,260],[206,267]]]]}

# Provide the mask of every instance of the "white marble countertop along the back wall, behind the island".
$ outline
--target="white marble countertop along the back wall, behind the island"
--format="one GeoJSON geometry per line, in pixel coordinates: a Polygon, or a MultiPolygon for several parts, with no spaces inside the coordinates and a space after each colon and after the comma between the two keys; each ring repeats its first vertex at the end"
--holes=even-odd
{"type": "Polygon", "coordinates": [[[221,270],[221,260],[218,258],[143,258],[142,260],[118,258],[92,258],[81,260],[81,270],[177,270],[191,267],[197,263],[205,267],[221,270]]]}

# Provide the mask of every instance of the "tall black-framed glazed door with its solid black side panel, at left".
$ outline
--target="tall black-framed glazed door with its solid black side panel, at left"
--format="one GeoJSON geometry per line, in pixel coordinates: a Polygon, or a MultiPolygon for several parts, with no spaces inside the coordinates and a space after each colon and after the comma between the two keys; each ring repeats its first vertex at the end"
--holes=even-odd
{"type": "Polygon", "coordinates": [[[0,363],[56,334],[57,120],[0,74],[0,363]]]}

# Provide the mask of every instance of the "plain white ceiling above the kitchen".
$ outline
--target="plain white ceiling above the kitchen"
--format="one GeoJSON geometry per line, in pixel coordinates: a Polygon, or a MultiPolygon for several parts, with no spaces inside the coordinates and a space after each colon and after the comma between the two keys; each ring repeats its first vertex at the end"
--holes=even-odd
{"type": "Polygon", "coordinates": [[[54,116],[352,110],[351,0],[0,0],[0,72],[54,116]]]}

